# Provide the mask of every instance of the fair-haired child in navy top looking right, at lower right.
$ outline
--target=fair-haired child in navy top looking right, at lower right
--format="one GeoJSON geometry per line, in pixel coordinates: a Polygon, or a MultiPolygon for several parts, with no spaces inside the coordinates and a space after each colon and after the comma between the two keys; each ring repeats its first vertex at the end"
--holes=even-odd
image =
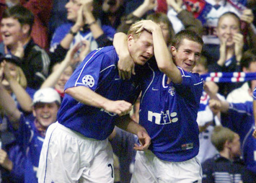
{"type": "Polygon", "coordinates": [[[247,183],[245,165],[239,158],[239,135],[229,128],[215,126],[211,141],[219,153],[202,164],[202,183],[247,183]]]}

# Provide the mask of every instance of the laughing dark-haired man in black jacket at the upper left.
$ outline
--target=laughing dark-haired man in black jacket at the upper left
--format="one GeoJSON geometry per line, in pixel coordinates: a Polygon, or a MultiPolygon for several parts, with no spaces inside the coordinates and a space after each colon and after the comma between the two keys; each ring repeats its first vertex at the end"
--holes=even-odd
{"type": "Polygon", "coordinates": [[[28,87],[38,90],[48,75],[50,60],[31,37],[33,23],[34,15],[22,5],[5,9],[0,24],[0,53],[17,56],[28,87]]]}

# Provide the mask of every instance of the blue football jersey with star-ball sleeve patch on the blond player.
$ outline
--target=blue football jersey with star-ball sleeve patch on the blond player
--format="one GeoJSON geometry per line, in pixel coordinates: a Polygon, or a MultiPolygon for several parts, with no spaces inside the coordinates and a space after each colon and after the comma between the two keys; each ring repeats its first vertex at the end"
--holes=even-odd
{"type": "MultiPolygon", "coordinates": [[[[65,90],[84,86],[110,100],[126,100],[134,103],[139,87],[135,79],[122,80],[119,77],[118,60],[113,46],[94,50],[74,71],[65,85],[65,90]]],[[[104,140],[111,134],[114,119],[117,117],[116,114],[85,105],[65,94],[57,120],[85,137],[104,140]]]]}

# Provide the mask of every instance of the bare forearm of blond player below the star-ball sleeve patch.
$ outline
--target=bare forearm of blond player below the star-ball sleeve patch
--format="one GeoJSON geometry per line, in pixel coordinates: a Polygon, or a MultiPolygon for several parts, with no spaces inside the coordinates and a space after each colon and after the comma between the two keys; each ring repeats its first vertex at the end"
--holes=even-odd
{"type": "Polygon", "coordinates": [[[65,90],[65,93],[69,94],[77,101],[85,105],[103,109],[105,109],[106,103],[110,101],[109,99],[97,94],[96,92],[84,86],[68,88],[67,90],[65,90]]]}

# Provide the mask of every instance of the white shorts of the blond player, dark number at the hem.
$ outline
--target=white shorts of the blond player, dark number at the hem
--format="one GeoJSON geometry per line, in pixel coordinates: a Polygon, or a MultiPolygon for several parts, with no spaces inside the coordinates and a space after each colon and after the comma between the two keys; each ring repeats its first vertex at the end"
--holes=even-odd
{"type": "Polygon", "coordinates": [[[113,183],[111,145],[55,122],[46,132],[38,176],[39,183],[113,183]]]}

